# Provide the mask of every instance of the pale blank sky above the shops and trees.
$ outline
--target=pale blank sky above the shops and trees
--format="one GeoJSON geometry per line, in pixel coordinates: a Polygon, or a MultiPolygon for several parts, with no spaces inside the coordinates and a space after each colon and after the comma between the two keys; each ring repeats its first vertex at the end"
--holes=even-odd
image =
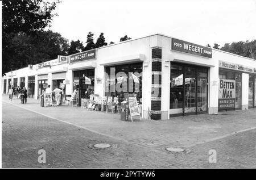
{"type": "Polygon", "coordinates": [[[89,31],[96,42],[119,42],[165,34],[200,45],[256,39],[256,0],[62,0],[57,5],[53,32],[86,44],[89,31]]]}

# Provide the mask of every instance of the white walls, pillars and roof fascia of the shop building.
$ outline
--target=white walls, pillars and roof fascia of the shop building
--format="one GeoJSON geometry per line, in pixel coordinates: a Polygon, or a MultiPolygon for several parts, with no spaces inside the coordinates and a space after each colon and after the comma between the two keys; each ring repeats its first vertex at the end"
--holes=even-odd
{"type": "MultiPolygon", "coordinates": [[[[95,79],[102,79],[102,83],[94,83],[94,94],[104,95],[105,66],[131,64],[134,62],[142,62],[142,118],[149,118],[148,110],[151,110],[151,87],[152,87],[152,48],[160,47],[162,49],[162,97],[161,99],[161,119],[170,118],[170,74],[171,63],[180,62],[183,64],[191,64],[207,67],[208,70],[208,113],[214,114],[218,112],[218,86],[214,82],[218,81],[219,61],[241,64],[255,69],[256,61],[250,58],[233,55],[232,53],[223,52],[212,49],[212,58],[201,57],[189,53],[177,52],[171,50],[171,37],[161,34],[155,34],[140,39],[123,41],[118,44],[108,45],[96,49],[96,58],[73,63],[56,64],[45,68],[37,69],[38,65],[34,65],[33,69],[23,68],[14,70],[13,73],[6,73],[2,77],[2,81],[6,80],[6,94],[8,92],[8,79],[26,77],[25,85],[28,86],[28,76],[35,76],[35,95],[38,98],[38,76],[48,74],[48,84],[52,82],[52,74],[58,72],[65,73],[65,79],[69,80],[66,85],[66,94],[73,92],[73,71],[82,69],[94,69],[95,79]]],[[[56,59],[57,60],[57,59],[56,59]]],[[[56,61],[55,60],[55,61],[56,61]]],[[[228,70],[228,69],[227,69],[228,70]]],[[[239,71],[238,71],[239,72],[239,71]]],[[[248,83],[249,72],[242,73],[242,110],[248,108],[248,83]]],[[[2,83],[3,84],[3,83],[2,83]]],[[[2,93],[4,87],[2,87],[2,93]]]]}

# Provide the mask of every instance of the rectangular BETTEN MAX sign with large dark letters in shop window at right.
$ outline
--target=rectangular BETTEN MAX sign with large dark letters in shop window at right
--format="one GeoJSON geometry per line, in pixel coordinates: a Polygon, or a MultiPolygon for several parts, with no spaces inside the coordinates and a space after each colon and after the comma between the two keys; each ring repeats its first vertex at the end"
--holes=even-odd
{"type": "Polygon", "coordinates": [[[235,108],[236,102],[236,81],[220,79],[218,86],[218,108],[226,110],[235,108]]]}

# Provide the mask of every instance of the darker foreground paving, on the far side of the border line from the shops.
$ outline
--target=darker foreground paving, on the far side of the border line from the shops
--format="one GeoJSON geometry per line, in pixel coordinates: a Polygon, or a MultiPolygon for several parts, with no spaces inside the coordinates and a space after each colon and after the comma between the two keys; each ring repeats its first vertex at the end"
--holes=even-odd
{"type": "MultiPolygon", "coordinates": [[[[127,143],[3,102],[3,168],[256,168],[256,129],[169,153],[139,143],[127,143]],[[92,149],[96,143],[109,149],[92,149]],[[39,164],[38,150],[46,150],[39,164]],[[217,163],[208,161],[209,150],[217,163]]],[[[144,122],[146,123],[146,122],[144,122]]]]}

